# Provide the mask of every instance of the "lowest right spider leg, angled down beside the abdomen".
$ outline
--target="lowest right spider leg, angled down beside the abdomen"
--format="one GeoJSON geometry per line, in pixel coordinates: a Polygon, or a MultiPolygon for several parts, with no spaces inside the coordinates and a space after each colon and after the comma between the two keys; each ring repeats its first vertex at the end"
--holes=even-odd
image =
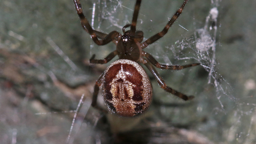
{"type": "Polygon", "coordinates": [[[194,96],[187,96],[183,93],[180,93],[176,90],[173,90],[171,87],[167,86],[164,82],[164,79],[159,75],[159,73],[157,72],[157,70],[155,69],[155,67],[147,60],[147,59],[143,59],[140,60],[140,62],[142,62],[150,71],[151,73],[154,75],[154,77],[156,78],[157,83],[161,86],[162,89],[164,89],[166,92],[169,92],[173,95],[176,95],[177,97],[183,99],[183,100],[190,100],[193,99],[194,96]]]}

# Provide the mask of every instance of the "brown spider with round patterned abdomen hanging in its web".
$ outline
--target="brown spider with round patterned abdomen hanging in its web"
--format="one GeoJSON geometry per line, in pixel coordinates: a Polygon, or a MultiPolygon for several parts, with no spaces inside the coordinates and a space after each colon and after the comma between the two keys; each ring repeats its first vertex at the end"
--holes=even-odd
{"type": "Polygon", "coordinates": [[[155,67],[160,69],[180,70],[200,65],[200,63],[192,63],[183,66],[161,65],[151,54],[142,50],[167,33],[173,22],[181,14],[187,2],[188,0],[183,2],[180,9],[174,13],[173,17],[161,32],[151,36],[145,42],[142,42],[143,32],[136,30],[141,0],[136,1],[132,23],[123,27],[123,35],[118,33],[118,31],[104,34],[92,29],[83,14],[81,3],[79,0],[74,0],[81,25],[83,29],[91,35],[93,42],[97,45],[105,45],[113,42],[116,45],[116,50],[107,55],[105,59],[95,59],[95,54],[93,54],[90,63],[104,64],[109,62],[116,55],[119,57],[119,60],[110,63],[110,66],[106,68],[96,81],[91,103],[92,107],[106,111],[97,105],[99,87],[102,85],[103,100],[111,113],[124,117],[133,117],[147,110],[152,100],[153,90],[146,71],[139,63],[142,63],[151,71],[159,86],[166,92],[176,95],[185,101],[194,98],[194,96],[187,96],[167,86],[155,67]],[[129,27],[130,30],[125,30],[129,27]]]}

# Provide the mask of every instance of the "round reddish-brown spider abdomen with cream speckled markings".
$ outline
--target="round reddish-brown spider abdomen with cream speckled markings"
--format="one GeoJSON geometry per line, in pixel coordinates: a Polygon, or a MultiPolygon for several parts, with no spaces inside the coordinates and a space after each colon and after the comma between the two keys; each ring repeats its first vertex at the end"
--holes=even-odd
{"type": "Polygon", "coordinates": [[[152,86],[137,62],[116,60],[105,70],[103,78],[103,100],[112,113],[132,117],[148,109],[152,86]]]}

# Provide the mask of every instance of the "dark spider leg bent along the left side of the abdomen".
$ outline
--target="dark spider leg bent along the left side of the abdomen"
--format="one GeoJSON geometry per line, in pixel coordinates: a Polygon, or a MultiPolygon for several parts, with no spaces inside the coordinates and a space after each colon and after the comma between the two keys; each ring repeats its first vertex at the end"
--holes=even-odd
{"type": "Polygon", "coordinates": [[[100,86],[102,84],[102,79],[103,79],[102,77],[103,77],[103,75],[104,75],[104,73],[102,73],[100,75],[99,79],[95,83],[91,106],[94,107],[94,108],[99,109],[100,111],[103,111],[103,113],[108,113],[108,111],[106,109],[100,107],[97,104],[98,93],[99,93],[99,90],[100,90],[100,86]]]}

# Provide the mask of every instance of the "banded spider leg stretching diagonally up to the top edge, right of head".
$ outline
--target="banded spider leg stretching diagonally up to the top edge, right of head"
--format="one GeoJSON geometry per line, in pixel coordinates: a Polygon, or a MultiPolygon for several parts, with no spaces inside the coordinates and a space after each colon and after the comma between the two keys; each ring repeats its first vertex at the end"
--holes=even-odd
{"type": "Polygon", "coordinates": [[[179,15],[181,14],[184,6],[187,4],[188,0],[185,0],[183,2],[183,4],[181,5],[180,9],[174,13],[174,15],[172,16],[171,20],[167,23],[167,25],[164,27],[164,29],[155,34],[154,36],[151,36],[150,38],[148,38],[145,42],[141,43],[141,48],[144,49],[145,47],[147,47],[149,44],[152,44],[154,42],[156,42],[159,38],[163,37],[167,31],[169,30],[169,28],[172,26],[172,24],[174,23],[174,21],[179,17],[179,15]]]}

